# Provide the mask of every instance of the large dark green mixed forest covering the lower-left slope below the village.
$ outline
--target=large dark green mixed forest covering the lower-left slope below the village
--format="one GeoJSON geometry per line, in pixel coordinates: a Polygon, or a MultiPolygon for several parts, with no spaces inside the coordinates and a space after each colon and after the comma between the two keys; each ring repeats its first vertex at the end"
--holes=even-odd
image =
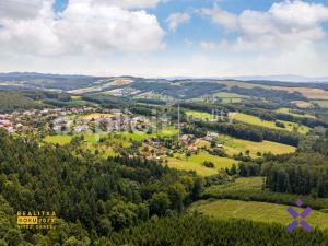
{"type": "MultiPolygon", "coordinates": [[[[5,131],[0,132],[0,145],[1,209],[11,213],[57,211],[87,241],[138,225],[153,215],[183,212],[202,188],[201,178],[151,161],[101,161],[83,151],[72,154],[70,148],[39,148],[33,140],[15,139],[5,131]]],[[[11,223],[8,220],[3,223],[11,223]]],[[[9,245],[36,242],[28,233],[1,226],[9,245]]]]}

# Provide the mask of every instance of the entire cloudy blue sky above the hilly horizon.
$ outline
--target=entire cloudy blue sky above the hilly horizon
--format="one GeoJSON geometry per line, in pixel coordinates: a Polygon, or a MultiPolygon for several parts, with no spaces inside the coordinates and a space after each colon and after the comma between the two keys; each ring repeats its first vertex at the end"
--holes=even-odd
{"type": "Polygon", "coordinates": [[[0,72],[328,77],[328,0],[1,0],[0,72]]]}

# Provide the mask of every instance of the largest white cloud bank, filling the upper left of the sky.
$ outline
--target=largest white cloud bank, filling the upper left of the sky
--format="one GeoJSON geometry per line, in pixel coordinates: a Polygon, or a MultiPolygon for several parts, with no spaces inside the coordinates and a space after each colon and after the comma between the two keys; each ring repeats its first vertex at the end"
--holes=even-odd
{"type": "Polygon", "coordinates": [[[70,0],[62,13],[55,14],[52,1],[43,0],[28,19],[16,13],[0,15],[0,52],[55,56],[163,47],[165,32],[155,15],[93,3],[70,0]]]}

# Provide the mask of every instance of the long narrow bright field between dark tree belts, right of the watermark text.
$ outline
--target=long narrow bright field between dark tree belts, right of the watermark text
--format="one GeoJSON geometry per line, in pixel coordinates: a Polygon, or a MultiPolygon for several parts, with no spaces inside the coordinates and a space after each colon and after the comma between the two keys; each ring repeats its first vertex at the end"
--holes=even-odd
{"type": "Polygon", "coordinates": [[[231,113],[230,118],[234,120],[256,125],[256,126],[267,127],[270,129],[288,130],[288,131],[293,131],[293,127],[296,126],[298,127],[298,132],[302,134],[306,134],[311,130],[311,128],[307,126],[304,125],[298,126],[297,124],[283,121],[283,120],[279,120],[279,121],[283,122],[285,125],[285,128],[280,128],[276,126],[274,121],[262,120],[259,117],[246,115],[243,113],[231,113]]]}

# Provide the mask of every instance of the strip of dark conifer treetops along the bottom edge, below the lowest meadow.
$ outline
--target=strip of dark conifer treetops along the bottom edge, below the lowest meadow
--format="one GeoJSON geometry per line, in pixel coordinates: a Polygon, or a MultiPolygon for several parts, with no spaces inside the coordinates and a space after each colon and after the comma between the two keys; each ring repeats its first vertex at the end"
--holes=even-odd
{"type": "Polygon", "coordinates": [[[232,246],[276,245],[318,246],[328,244],[327,232],[302,230],[289,234],[277,224],[249,221],[213,221],[200,215],[152,220],[132,230],[114,234],[103,245],[232,246]]]}

